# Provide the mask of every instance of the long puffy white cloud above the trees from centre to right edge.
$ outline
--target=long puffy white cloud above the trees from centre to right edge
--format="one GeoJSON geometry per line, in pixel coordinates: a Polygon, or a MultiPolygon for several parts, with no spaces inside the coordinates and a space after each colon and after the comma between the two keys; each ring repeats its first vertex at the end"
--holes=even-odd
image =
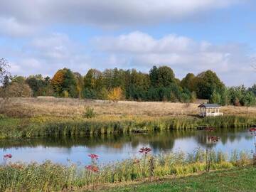
{"type": "Polygon", "coordinates": [[[92,43],[96,50],[110,55],[106,63],[114,65],[120,60],[119,66],[122,68],[129,68],[131,63],[147,70],[152,65],[169,65],[174,68],[178,78],[189,72],[200,73],[210,69],[216,71],[228,85],[250,85],[256,81],[256,78],[252,78],[252,70],[248,70],[248,48],[242,44],[217,46],[175,34],[156,39],[139,31],[115,37],[97,37],[92,43]]]}

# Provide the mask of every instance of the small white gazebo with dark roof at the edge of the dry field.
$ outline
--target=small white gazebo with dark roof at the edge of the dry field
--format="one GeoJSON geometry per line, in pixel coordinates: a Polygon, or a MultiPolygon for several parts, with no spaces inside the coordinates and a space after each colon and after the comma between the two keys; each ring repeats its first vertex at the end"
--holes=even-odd
{"type": "Polygon", "coordinates": [[[199,115],[201,117],[208,116],[222,116],[223,112],[220,112],[220,105],[218,104],[201,104],[199,107],[199,115]]]}

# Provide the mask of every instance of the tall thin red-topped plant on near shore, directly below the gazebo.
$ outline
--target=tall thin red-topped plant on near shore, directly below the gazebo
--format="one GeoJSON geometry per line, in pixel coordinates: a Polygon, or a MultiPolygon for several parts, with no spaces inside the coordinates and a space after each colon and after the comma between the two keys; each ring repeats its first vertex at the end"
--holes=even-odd
{"type": "MultiPolygon", "coordinates": [[[[206,127],[204,129],[206,132],[213,132],[215,129],[213,127],[206,127]]],[[[213,144],[220,141],[220,137],[217,136],[207,136],[206,137],[206,171],[210,171],[210,164],[213,161],[213,144]]]]}

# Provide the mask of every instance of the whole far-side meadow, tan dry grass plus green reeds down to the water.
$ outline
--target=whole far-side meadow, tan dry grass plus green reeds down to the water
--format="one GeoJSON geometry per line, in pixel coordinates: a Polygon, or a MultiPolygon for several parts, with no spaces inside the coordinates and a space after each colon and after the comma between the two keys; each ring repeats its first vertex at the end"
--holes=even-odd
{"type": "Polygon", "coordinates": [[[11,98],[1,101],[0,138],[85,136],[161,129],[250,127],[255,107],[223,107],[225,116],[199,118],[198,104],[11,98]]]}

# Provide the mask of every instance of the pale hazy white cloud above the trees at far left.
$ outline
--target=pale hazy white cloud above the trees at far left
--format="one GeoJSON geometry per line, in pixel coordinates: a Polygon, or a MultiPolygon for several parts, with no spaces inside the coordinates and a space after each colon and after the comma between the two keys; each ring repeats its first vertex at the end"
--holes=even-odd
{"type": "MultiPolygon", "coordinates": [[[[60,68],[72,68],[85,73],[90,68],[90,57],[85,49],[62,33],[33,38],[19,50],[9,48],[11,73],[13,75],[32,75],[41,73],[53,75],[60,68]]],[[[5,49],[0,48],[1,53],[5,49]]]]}

